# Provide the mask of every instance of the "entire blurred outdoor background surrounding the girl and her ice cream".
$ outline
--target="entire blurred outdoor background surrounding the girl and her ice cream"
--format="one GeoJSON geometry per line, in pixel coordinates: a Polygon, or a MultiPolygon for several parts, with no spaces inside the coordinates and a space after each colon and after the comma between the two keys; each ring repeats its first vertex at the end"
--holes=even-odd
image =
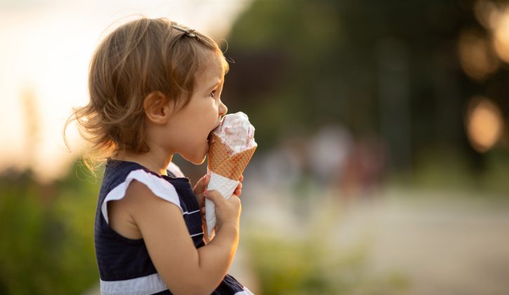
{"type": "MultiPolygon", "coordinates": [[[[230,273],[256,294],[509,294],[509,2],[0,2],[0,294],[98,294],[71,108],[132,15],[219,41],[256,127],[230,273]]],[[[206,166],[174,162],[194,183],[206,166]]]]}

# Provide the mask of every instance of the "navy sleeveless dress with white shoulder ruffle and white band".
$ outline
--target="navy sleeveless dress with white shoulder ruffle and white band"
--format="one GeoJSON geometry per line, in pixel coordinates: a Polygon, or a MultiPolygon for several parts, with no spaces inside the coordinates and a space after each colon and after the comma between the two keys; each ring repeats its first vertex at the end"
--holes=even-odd
{"type": "MultiPolygon", "coordinates": [[[[176,166],[174,166],[176,167],[176,166]]],[[[203,247],[199,207],[188,178],[157,173],[135,162],[108,159],[95,212],[95,255],[100,275],[101,294],[171,294],[161,279],[143,239],[120,235],[108,224],[107,202],[124,197],[131,181],[147,185],[154,195],[176,204],[182,210],[194,247],[203,247]]],[[[197,278],[198,280],[198,278],[197,278]]],[[[252,294],[231,275],[226,275],[212,294],[252,294]]]]}

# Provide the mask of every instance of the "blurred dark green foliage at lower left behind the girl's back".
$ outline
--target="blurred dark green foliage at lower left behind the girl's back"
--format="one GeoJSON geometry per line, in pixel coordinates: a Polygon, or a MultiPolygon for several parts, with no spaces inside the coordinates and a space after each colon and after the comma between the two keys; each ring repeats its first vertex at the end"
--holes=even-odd
{"type": "Polygon", "coordinates": [[[48,184],[30,171],[0,177],[0,294],[78,294],[97,282],[98,183],[77,173],[48,184]]]}

